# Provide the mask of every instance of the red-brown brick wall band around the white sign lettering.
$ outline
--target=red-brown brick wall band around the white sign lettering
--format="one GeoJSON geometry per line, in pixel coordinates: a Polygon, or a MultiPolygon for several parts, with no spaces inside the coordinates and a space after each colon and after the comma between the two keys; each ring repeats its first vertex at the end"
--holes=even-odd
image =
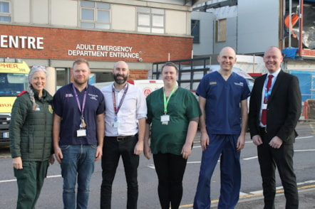
{"type": "MultiPolygon", "coordinates": [[[[153,63],[167,60],[170,53],[171,60],[187,59],[191,57],[192,38],[176,36],[153,36],[135,33],[112,33],[102,31],[86,31],[63,28],[41,28],[32,26],[10,26],[0,24],[0,35],[43,37],[43,49],[9,48],[0,45],[0,57],[36,58],[53,60],[87,60],[153,63]],[[69,55],[69,50],[76,50],[78,44],[112,45],[132,47],[131,53],[138,53],[139,58],[119,58],[95,55],[69,55]]],[[[4,43],[8,44],[8,43],[4,43]]],[[[94,49],[95,51],[95,49],[94,49]]],[[[143,73],[143,72],[141,72],[143,73]]],[[[140,74],[141,74],[140,73],[140,74]]],[[[135,72],[135,76],[142,77],[135,72]]]]}

